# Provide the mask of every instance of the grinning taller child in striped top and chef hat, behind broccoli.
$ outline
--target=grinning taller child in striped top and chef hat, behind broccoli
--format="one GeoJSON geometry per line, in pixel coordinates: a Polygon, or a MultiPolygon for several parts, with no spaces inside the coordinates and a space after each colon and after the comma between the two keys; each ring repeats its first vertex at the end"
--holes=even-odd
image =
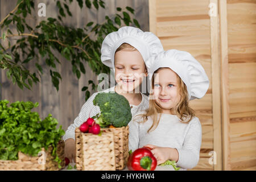
{"type": "MultiPolygon", "coordinates": [[[[146,60],[150,56],[163,51],[160,40],[151,32],[143,32],[139,28],[122,27],[117,32],[106,36],[102,42],[101,61],[114,69],[117,86],[102,92],[117,92],[129,101],[131,114],[147,109],[148,97],[138,90],[143,78],[147,76],[146,60]]],[[[65,141],[65,157],[75,162],[75,129],[89,117],[100,113],[100,107],[93,105],[98,94],[94,93],[82,106],[79,115],[71,124],[63,140],[65,141]]]]}

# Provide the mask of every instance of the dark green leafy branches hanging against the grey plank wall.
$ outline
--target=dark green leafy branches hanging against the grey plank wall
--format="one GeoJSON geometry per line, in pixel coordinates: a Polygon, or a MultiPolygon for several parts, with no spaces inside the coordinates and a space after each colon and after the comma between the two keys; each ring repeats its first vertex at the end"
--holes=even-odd
{"type": "MultiPolygon", "coordinates": [[[[102,0],[76,0],[80,8],[86,6],[87,9],[94,7],[95,9],[105,9],[105,2],[102,0]]],[[[47,18],[39,24],[31,27],[26,20],[28,14],[35,13],[35,5],[32,0],[19,0],[14,10],[12,10],[4,19],[1,20],[0,26],[2,31],[3,42],[7,41],[7,47],[3,47],[0,43],[0,69],[7,69],[7,77],[18,84],[19,88],[25,86],[32,88],[33,82],[39,82],[39,76],[43,74],[43,68],[39,64],[41,57],[48,67],[49,75],[53,86],[59,90],[59,82],[61,75],[56,69],[56,64],[63,64],[68,61],[71,64],[72,72],[79,79],[81,73],[85,74],[85,63],[89,64],[90,69],[96,75],[100,73],[109,73],[110,69],[101,63],[101,44],[104,37],[110,32],[117,31],[122,22],[126,26],[133,23],[140,27],[136,19],[131,18],[134,10],[131,7],[121,9],[117,7],[117,14],[112,17],[105,16],[105,22],[98,24],[89,22],[83,28],[75,28],[65,26],[63,18],[72,16],[69,11],[69,5],[73,0],[56,1],[58,15],[56,18],[47,18]],[[33,11],[34,10],[34,11],[33,11]],[[15,27],[18,34],[11,31],[10,26],[15,27]],[[93,36],[95,39],[91,39],[93,36]],[[10,38],[18,38],[14,44],[11,44],[10,38]],[[22,54],[20,55],[20,52],[22,54]],[[56,52],[60,53],[65,59],[58,59],[56,52]],[[39,53],[39,54],[38,54],[39,53]],[[30,73],[23,65],[34,63],[36,72],[30,73]]],[[[36,18],[36,16],[35,16],[36,18]]],[[[92,89],[96,89],[96,85],[92,80],[87,86],[82,87],[85,92],[85,100],[90,96],[88,86],[92,84],[92,89]]]]}

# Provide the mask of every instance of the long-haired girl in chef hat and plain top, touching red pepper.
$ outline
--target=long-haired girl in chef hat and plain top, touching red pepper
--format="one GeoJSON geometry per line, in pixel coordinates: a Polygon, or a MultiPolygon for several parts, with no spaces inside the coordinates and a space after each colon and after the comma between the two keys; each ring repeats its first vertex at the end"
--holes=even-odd
{"type": "MultiPolygon", "coordinates": [[[[201,64],[188,52],[171,49],[148,63],[151,94],[146,111],[129,123],[129,150],[147,146],[158,165],[175,160],[182,169],[199,162],[201,124],[188,101],[201,98],[209,80],[201,64]]],[[[157,167],[156,170],[170,169],[157,167]]]]}

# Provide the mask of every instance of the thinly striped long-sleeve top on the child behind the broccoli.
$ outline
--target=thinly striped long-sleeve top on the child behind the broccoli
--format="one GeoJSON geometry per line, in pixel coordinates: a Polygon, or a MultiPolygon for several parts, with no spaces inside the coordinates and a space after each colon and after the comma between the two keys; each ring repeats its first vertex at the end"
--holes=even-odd
{"type": "MultiPolygon", "coordinates": [[[[112,88],[103,90],[101,92],[115,92],[114,88],[115,88],[115,86],[113,86],[112,88]]],[[[96,92],[88,98],[88,100],[82,106],[80,113],[76,117],[75,121],[65,131],[65,135],[63,136],[64,141],[67,140],[68,138],[73,138],[75,140],[76,127],[79,127],[80,125],[82,125],[82,123],[84,123],[89,117],[93,117],[94,115],[100,113],[100,107],[93,105],[93,100],[96,97],[96,95],[101,92],[96,92]]],[[[148,96],[146,96],[142,93],[141,93],[141,95],[142,95],[142,101],[139,105],[130,105],[131,106],[131,114],[133,117],[139,111],[143,111],[148,108],[148,104],[149,104],[148,96]]]]}

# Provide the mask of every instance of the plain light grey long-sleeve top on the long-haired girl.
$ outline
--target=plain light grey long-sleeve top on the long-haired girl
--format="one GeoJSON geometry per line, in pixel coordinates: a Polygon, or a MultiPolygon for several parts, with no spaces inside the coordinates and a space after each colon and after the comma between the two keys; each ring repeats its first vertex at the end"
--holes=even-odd
{"type": "MultiPolygon", "coordinates": [[[[202,135],[199,118],[193,117],[189,123],[181,123],[176,115],[162,114],[158,126],[150,133],[147,130],[153,123],[151,117],[144,123],[140,121],[143,121],[141,117],[134,117],[129,122],[129,150],[134,151],[146,144],[176,148],[179,153],[177,167],[186,170],[197,165],[202,135]]],[[[170,170],[173,170],[172,166],[170,170]]]]}

